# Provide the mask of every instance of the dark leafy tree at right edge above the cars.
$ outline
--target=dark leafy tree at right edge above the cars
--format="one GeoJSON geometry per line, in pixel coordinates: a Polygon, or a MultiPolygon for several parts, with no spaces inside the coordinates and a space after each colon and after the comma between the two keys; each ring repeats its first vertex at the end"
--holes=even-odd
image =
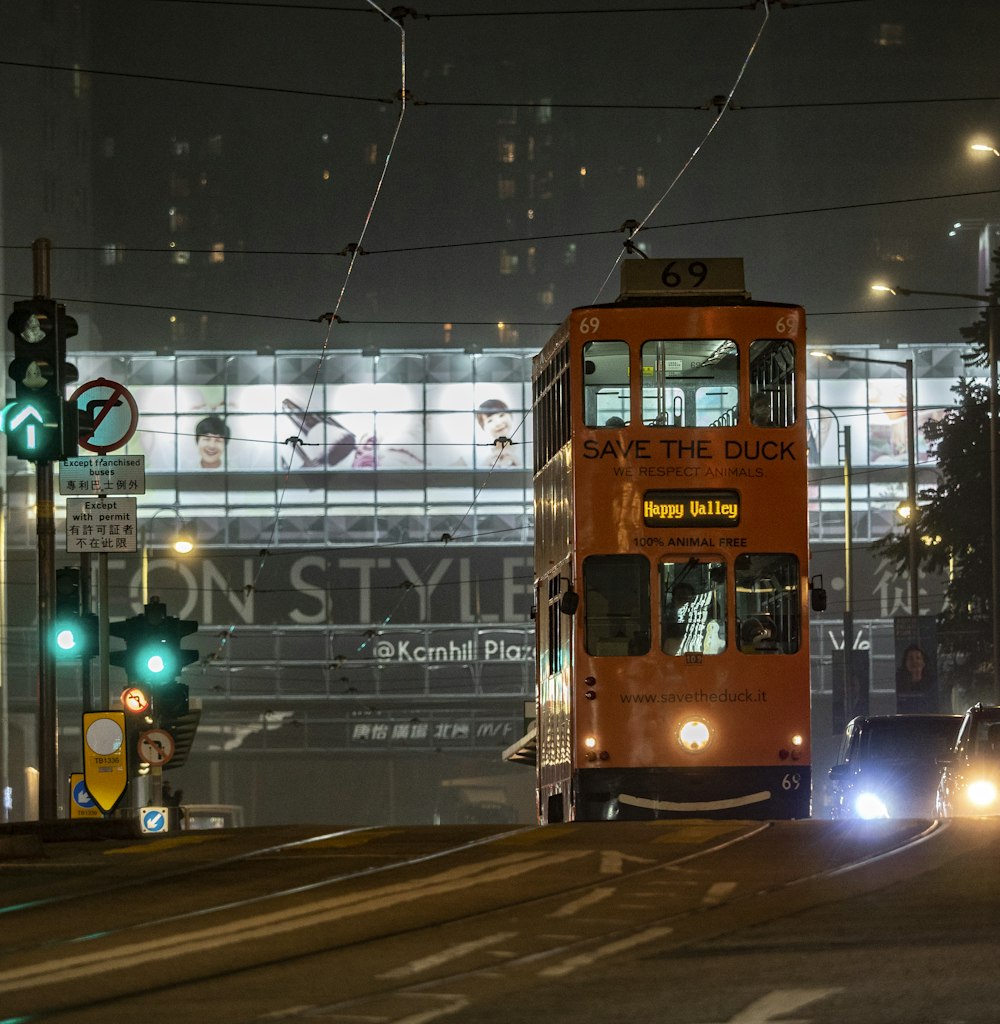
{"type": "MultiPolygon", "coordinates": [[[[993,254],[995,271],[1000,249],[993,254]]],[[[995,272],[990,286],[994,301],[1000,294],[995,272]]],[[[960,329],[969,342],[963,356],[969,367],[989,368],[989,316],[984,307],[976,323],[960,329]]],[[[992,700],[993,673],[993,538],[990,516],[990,389],[962,377],[952,388],[954,408],[923,427],[923,436],[938,460],[936,487],[919,494],[920,564],[940,573],[945,583],[945,608],[938,616],[942,665],[953,687],[969,702],[992,700]]],[[[1000,539],[998,539],[1000,541],[1000,539]]],[[[874,550],[905,570],[909,547],[906,530],[890,534],[874,550]]]]}

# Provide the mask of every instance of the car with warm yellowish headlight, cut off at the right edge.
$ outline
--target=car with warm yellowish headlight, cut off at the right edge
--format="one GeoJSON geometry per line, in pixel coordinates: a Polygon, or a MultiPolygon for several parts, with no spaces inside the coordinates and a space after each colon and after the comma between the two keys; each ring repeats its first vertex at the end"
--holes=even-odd
{"type": "Polygon", "coordinates": [[[942,761],[938,814],[1000,814],[1000,707],[973,705],[962,719],[954,751],[942,761]]]}

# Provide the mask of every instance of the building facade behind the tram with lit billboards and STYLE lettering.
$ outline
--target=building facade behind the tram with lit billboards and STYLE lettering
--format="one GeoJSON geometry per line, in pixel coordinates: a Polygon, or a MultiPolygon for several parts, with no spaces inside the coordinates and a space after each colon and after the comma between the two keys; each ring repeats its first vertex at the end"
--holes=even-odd
{"type": "MultiPolygon", "coordinates": [[[[954,345],[841,354],[912,358],[918,427],[954,403],[951,389],[967,374],[954,345]]],[[[123,450],[145,462],[137,552],[106,555],[110,617],[135,614],[155,595],[171,614],[201,624],[187,641],[200,662],[184,673],[202,707],[189,764],[177,773],[188,785],[208,772],[207,796],[247,805],[251,820],[264,822],[280,817],[295,784],[271,784],[290,763],[371,766],[405,754],[416,764],[419,755],[450,753],[471,759],[451,774],[501,766],[502,751],[521,735],[534,685],[532,355],[77,358],[81,382],[124,383],[139,413],[123,450]],[[197,543],[186,557],[168,548],[178,526],[197,543]]],[[[810,571],[822,573],[830,595],[812,623],[812,685],[814,732],[825,737],[844,642],[844,427],[853,462],[852,645],[867,658],[872,710],[895,710],[894,616],[909,613],[908,581],[872,557],[870,545],[897,526],[906,495],[907,410],[899,367],[849,358],[811,360],[811,371],[810,571]]],[[[932,486],[922,436],[916,458],[919,487],[932,486]]],[[[31,763],[34,468],[8,460],[7,469],[5,678],[15,760],[19,750],[31,763]]],[[[57,565],[79,557],[63,545],[69,486],[56,488],[57,565]]],[[[97,562],[91,557],[93,574],[97,562]]],[[[941,604],[940,581],[923,578],[922,614],[941,604]]],[[[124,685],[117,671],[113,694],[124,685]]],[[[74,728],[86,685],[79,667],[59,669],[67,772],[78,770],[74,728]]],[[[530,772],[506,769],[519,773],[522,793],[530,788],[530,772]]],[[[440,792],[442,778],[430,772],[425,782],[440,792]]],[[[389,788],[399,786],[397,779],[389,788]]],[[[421,807],[414,814],[425,820],[421,807]]]]}

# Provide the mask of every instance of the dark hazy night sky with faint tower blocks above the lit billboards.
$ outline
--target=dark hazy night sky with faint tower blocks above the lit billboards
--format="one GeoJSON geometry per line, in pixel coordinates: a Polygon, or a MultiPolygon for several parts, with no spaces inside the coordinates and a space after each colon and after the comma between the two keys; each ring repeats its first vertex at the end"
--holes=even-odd
{"type": "MultiPolygon", "coordinates": [[[[976,315],[906,311],[950,304],[916,298],[877,311],[868,288],[979,290],[977,228],[1000,202],[1000,160],[968,152],[1000,139],[992,0],[434,0],[402,31],[363,2],[81,6],[83,35],[50,32],[41,3],[15,28],[29,62],[115,73],[85,79],[86,104],[69,73],[0,63],[0,83],[29,108],[47,89],[63,124],[89,109],[92,229],[42,213],[35,229],[25,203],[42,198],[8,194],[5,291],[31,284],[9,247],[83,247],[56,248],[53,291],[98,346],[167,347],[168,314],[198,310],[189,348],[310,347],[325,333],[310,318],[338,309],[339,347],[436,344],[444,323],[490,345],[497,322],[530,347],[614,298],[619,227],[646,218],[649,255],[742,256],[754,297],[803,304],[816,341],[951,341],[976,315]],[[949,238],[959,220],[972,229],[949,238]],[[348,278],[338,254],[359,240],[348,278]],[[101,265],[108,244],[121,266],[101,265]]],[[[37,154],[7,140],[4,159],[37,154]]]]}

